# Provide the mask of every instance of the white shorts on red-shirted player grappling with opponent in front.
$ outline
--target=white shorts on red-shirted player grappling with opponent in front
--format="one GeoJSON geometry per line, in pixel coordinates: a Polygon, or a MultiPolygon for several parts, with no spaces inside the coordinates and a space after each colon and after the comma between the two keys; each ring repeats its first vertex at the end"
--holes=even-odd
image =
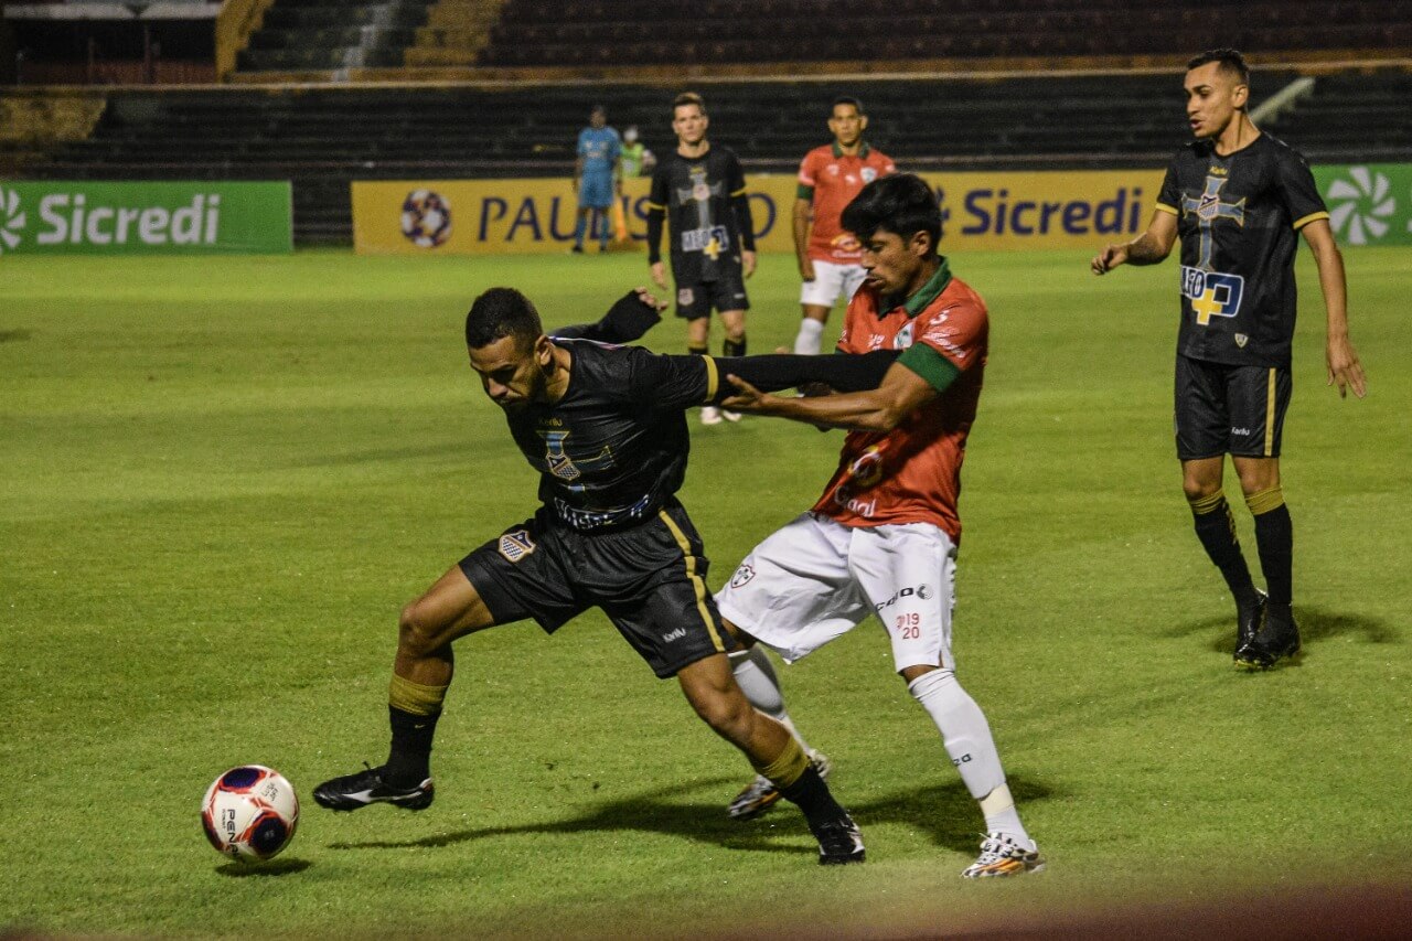
{"type": "Polygon", "coordinates": [[[788,663],[877,613],[899,673],[955,670],[955,589],[956,545],[940,527],[847,527],[805,513],[746,557],[716,606],[788,663]]]}

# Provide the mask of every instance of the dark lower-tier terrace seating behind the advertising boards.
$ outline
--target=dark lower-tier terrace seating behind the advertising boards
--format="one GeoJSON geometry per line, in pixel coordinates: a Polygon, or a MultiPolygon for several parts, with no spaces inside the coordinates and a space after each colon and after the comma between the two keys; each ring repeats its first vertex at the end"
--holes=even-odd
{"type": "MultiPolygon", "coordinates": [[[[1271,92],[1292,78],[1261,72],[1271,92]]],[[[1171,72],[1058,78],[731,82],[702,86],[713,140],[748,172],[792,172],[826,140],[829,103],[858,95],[868,137],[902,167],[1161,165],[1186,138],[1171,72]]],[[[590,105],[674,146],[676,86],[124,89],[92,137],[58,146],[34,175],[292,179],[295,237],[350,239],[352,179],[566,177],[590,105]]]]}

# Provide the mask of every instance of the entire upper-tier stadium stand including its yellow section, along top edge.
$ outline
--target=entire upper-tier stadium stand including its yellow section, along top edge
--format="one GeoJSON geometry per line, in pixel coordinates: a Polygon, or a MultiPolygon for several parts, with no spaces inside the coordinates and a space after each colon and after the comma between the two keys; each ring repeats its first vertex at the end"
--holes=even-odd
{"type": "Polygon", "coordinates": [[[1286,62],[1412,54],[1401,0],[274,0],[267,20],[241,81],[1171,66],[1217,41],[1286,62]]]}

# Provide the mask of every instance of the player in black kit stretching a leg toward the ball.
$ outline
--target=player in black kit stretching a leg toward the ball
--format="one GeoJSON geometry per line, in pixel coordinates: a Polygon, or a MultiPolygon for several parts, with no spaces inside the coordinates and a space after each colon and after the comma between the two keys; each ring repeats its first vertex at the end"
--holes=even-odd
{"type": "Polygon", "coordinates": [[[799,805],[819,841],[819,862],[863,859],[857,827],[795,738],[736,685],[726,657],[734,641],[706,588],[702,540],[675,495],[690,445],[685,410],[731,394],[727,374],[770,389],[812,381],[867,389],[891,355],[716,360],[596,342],[635,339],[659,309],[638,288],[600,324],[551,338],[520,291],[493,288],[476,298],[466,316],[470,366],[541,475],[544,506],[402,610],[387,763],[325,781],[313,791],[321,805],[428,807],[452,641],[525,619],[554,633],[596,606],[658,677],[675,675],[698,715],[799,805]]]}

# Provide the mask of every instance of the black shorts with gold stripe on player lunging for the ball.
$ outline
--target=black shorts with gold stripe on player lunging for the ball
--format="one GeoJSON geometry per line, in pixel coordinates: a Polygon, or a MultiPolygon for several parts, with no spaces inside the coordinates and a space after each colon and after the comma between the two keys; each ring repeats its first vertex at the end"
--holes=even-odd
{"type": "Polygon", "coordinates": [[[552,634],[602,608],[664,678],[731,646],[706,567],[700,535],[675,502],[607,533],[580,533],[539,510],[460,560],[497,625],[532,617],[552,634]]]}

